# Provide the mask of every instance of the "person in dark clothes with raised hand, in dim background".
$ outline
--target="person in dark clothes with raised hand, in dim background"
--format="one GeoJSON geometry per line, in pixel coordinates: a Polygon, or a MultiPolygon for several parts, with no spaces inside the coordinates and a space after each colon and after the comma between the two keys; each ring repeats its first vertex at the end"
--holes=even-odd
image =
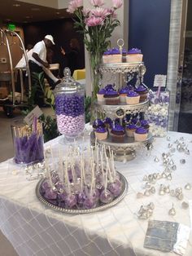
{"type": "Polygon", "coordinates": [[[74,70],[80,69],[80,44],[76,38],[72,38],[70,43],[71,50],[67,53],[64,51],[64,48],[61,47],[61,53],[67,57],[68,60],[68,68],[71,70],[71,75],[73,74],[74,70]]]}

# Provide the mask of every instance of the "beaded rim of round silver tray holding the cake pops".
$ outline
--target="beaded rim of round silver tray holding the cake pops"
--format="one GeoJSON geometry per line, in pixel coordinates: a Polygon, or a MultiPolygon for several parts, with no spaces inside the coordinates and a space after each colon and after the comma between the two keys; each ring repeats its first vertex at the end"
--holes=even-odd
{"type": "Polygon", "coordinates": [[[124,198],[124,196],[126,196],[126,194],[128,192],[128,182],[124,178],[123,174],[120,174],[119,172],[118,172],[118,174],[120,175],[120,180],[122,182],[122,191],[120,192],[120,196],[117,196],[109,204],[99,205],[98,207],[95,207],[93,209],[87,209],[87,210],[75,209],[74,210],[74,209],[66,209],[66,208],[56,206],[56,205],[52,205],[49,201],[46,201],[46,199],[43,196],[41,196],[41,193],[40,193],[41,183],[43,183],[46,178],[41,179],[37,183],[36,195],[37,195],[38,200],[41,201],[41,203],[48,206],[52,210],[57,210],[59,212],[65,213],[65,214],[92,214],[92,213],[95,213],[95,212],[98,212],[98,211],[101,211],[101,210],[109,209],[111,206],[116,205],[117,203],[119,203],[124,198]]]}

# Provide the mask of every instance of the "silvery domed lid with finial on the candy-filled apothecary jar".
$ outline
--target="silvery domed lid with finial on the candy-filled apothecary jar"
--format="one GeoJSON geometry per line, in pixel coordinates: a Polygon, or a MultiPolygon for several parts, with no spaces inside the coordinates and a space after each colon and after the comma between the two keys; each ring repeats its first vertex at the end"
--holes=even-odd
{"type": "Polygon", "coordinates": [[[62,81],[55,87],[55,95],[59,93],[73,93],[79,90],[84,90],[84,86],[79,82],[76,82],[76,80],[71,77],[71,71],[69,68],[64,68],[63,74],[64,77],[62,81]]]}

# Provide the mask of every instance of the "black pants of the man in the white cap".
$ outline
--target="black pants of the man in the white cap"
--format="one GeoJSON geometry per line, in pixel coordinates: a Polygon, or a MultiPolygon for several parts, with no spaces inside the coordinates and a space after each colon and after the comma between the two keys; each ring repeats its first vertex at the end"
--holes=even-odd
{"type": "Polygon", "coordinates": [[[52,88],[55,87],[55,83],[46,75],[46,73],[43,71],[43,69],[36,63],[34,63],[32,60],[28,61],[30,73],[31,73],[31,80],[32,80],[32,93],[33,96],[33,103],[37,104],[39,107],[42,107],[44,105],[44,77],[46,77],[47,81],[49,82],[50,86],[52,88]],[[41,85],[40,83],[37,83],[37,78],[39,74],[42,74],[41,77],[41,85]]]}

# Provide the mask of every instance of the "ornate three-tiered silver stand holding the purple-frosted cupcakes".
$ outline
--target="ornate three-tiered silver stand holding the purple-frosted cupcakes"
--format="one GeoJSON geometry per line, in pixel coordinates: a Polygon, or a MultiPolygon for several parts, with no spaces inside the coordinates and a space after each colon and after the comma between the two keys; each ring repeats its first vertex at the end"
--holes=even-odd
{"type": "MultiPolygon", "coordinates": [[[[142,79],[146,73],[146,66],[143,62],[136,63],[116,63],[116,64],[102,64],[100,66],[100,72],[102,73],[119,73],[120,75],[120,88],[122,86],[122,76],[124,73],[137,73],[138,76],[142,79]]],[[[94,104],[95,113],[98,113],[100,117],[111,117],[111,118],[120,118],[122,119],[126,114],[137,114],[144,113],[149,107],[149,101],[146,100],[139,104],[118,104],[118,105],[106,105],[94,104]]],[[[152,144],[152,135],[148,134],[147,139],[142,142],[137,142],[133,138],[125,137],[123,143],[114,143],[111,141],[111,136],[108,135],[108,138],[105,140],[97,140],[98,144],[106,145],[106,150],[108,146],[114,152],[114,159],[116,161],[130,161],[136,157],[136,150],[141,148],[151,148],[152,144]]],[[[95,136],[94,131],[91,133],[91,143],[94,145],[95,136]]]]}

